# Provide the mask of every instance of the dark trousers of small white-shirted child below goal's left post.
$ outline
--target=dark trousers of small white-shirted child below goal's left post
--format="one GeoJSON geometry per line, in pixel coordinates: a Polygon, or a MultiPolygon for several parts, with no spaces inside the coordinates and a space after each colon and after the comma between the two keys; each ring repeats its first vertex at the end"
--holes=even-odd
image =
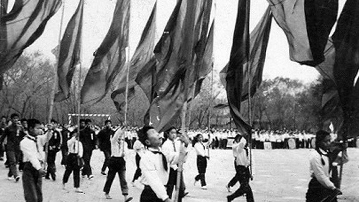
{"type": "Polygon", "coordinates": [[[69,177],[70,177],[71,173],[73,173],[75,188],[80,187],[80,167],[79,167],[77,161],[78,161],[77,154],[70,153],[69,156],[67,156],[66,170],[64,173],[64,177],[62,178],[62,183],[65,184],[69,181],[69,177]]]}

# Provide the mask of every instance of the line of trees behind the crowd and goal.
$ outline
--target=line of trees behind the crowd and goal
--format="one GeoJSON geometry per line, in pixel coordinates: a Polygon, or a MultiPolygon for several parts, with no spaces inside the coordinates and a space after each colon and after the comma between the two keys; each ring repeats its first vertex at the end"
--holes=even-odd
{"type": "MultiPolygon", "coordinates": [[[[25,52],[12,69],[4,75],[4,86],[0,91],[0,115],[9,116],[18,113],[24,118],[37,118],[46,121],[50,105],[50,93],[53,85],[55,63],[41,52],[25,52]]],[[[85,70],[81,81],[84,81],[85,70]]],[[[79,72],[76,70],[71,97],[55,103],[53,118],[67,123],[69,113],[77,113],[79,72]]],[[[115,86],[112,87],[115,89],[115,86]]],[[[110,91],[111,93],[111,91],[110,91]]],[[[322,83],[320,80],[304,84],[298,80],[277,77],[264,80],[252,98],[252,117],[254,126],[262,129],[298,129],[310,130],[322,128],[321,116],[322,83]]],[[[214,81],[213,88],[209,78],[202,84],[200,94],[190,102],[190,128],[211,127],[234,128],[228,107],[216,108],[216,105],[227,103],[225,89],[214,81]],[[213,89],[213,92],[211,92],[213,89]]],[[[141,126],[143,115],[148,109],[146,96],[139,88],[135,98],[129,103],[128,124],[141,126]]],[[[243,102],[242,114],[248,117],[247,101],[243,102]]],[[[115,123],[122,122],[123,113],[118,113],[109,95],[93,106],[81,106],[81,113],[111,114],[115,123]]],[[[188,117],[188,116],[187,116],[188,117]]],[[[94,118],[101,124],[104,118],[94,118]]],[[[177,125],[180,126],[180,119],[177,125]]]]}

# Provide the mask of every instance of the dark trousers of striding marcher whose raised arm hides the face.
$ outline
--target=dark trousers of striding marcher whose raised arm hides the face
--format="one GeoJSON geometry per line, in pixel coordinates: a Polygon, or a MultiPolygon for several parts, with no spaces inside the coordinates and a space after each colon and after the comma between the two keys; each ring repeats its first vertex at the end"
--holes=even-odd
{"type": "Polygon", "coordinates": [[[232,195],[228,196],[228,198],[232,201],[233,199],[246,194],[247,202],[254,202],[252,188],[249,185],[250,180],[250,171],[246,166],[236,165],[234,162],[234,166],[236,167],[236,175],[230,180],[228,183],[229,187],[233,187],[237,182],[241,184],[239,188],[232,195]]]}

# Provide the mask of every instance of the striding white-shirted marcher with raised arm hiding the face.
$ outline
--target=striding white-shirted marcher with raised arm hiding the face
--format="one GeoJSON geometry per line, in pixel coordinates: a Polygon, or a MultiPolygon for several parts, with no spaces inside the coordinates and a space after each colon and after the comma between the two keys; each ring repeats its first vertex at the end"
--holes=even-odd
{"type": "Polygon", "coordinates": [[[251,173],[248,167],[250,164],[248,159],[248,144],[246,139],[243,138],[240,134],[237,134],[237,136],[234,138],[232,150],[236,175],[229,181],[229,183],[226,185],[226,188],[228,192],[230,192],[230,187],[233,187],[237,182],[239,182],[240,186],[236,192],[227,196],[227,201],[233,201],[233,199],[246,194],[247,202],[254,202],[252,189],[249,185],[251,173]]]}

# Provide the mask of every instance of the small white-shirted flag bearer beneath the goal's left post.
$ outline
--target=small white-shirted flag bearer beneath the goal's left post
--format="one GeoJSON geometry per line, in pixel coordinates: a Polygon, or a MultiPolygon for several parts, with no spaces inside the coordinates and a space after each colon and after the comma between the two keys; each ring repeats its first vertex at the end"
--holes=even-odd
{"type": "Polygon", "coordinates": [[[62,178],[62,188],[66,189],[66,183],[69,181],[71,173],[74,175],[74,187],[76,193],[83,193],[80,189],[80,169],[83,155],[82,143],[79,141],[78,132],[74,130],[70,133],[71,139],[67,141],[69,154],[66,158],[66,170],[62,178]]]}

